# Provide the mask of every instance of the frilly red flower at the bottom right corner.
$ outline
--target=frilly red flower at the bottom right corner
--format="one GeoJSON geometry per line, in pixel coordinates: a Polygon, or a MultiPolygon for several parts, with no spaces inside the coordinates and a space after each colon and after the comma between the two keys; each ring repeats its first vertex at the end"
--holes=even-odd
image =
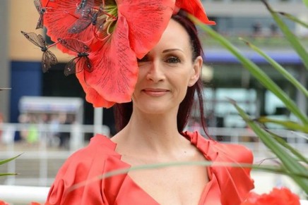
{"type": "Polygon", "coordinates": [[[269,194],[256,194],[250,192],[241,205],[300,205],[300,197],[283,187],[273,188],[269,194]]]}

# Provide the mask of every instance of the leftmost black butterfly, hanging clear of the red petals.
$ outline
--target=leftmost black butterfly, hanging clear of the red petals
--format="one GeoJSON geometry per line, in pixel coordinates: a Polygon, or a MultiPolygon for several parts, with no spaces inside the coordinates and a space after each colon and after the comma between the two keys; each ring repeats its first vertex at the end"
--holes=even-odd
{"type": "Polygon", "coordinates": [[[43,52],[42,55],[42,70],[43,73],[46,73],[49,68],[52,65],[55,65],[58,63],[57,57],[52,53],[52,51],[49,51],[49,46],[47,45],[45,39],[42,37],[42,35],[37,35],[34,32],[23,32],[21,33],[32,43],[35,44],[35,46],[40,47],[41,51],[43,52]]]}

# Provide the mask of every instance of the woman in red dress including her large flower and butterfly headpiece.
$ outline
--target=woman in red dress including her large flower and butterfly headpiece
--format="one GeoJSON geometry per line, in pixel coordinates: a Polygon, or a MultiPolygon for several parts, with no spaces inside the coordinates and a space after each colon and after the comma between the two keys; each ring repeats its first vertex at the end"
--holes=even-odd
{"type": "MultiPolygon", "coordinates": [[[[201,1],[102,3],[35,1],[40,25],[45,24],[61,51],[75,55],[64,73],[76,73],[93,106],[115,104],[119,131],[111,139],[95,135],[72,154],[46,204],[240,204],[254,187],[250,169],[204,164],[252,163],[251,151],[184,132],[195,94],[206,130],[203,53],[196,27],[186,16],[213,25],[201,1]],[[174,162],[186,165],[132,169],[174,162]]],[[[23,35],[41,47],[46,71],[44,66],[56,62],[50,46],[40,35],[23,35]]]]}

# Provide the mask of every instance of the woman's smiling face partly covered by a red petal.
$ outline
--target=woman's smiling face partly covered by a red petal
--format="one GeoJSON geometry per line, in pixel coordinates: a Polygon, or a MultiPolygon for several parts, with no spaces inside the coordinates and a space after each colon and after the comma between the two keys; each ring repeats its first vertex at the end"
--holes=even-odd
{"type": "Polygon", "coordinates": [[[134,109],[166,113],[177,111],[187,87],[199,79],[202,58],[192,59],[189,35],[182,25],[170,20],[158,44],[138,61],[138,66],[134,109]]]}

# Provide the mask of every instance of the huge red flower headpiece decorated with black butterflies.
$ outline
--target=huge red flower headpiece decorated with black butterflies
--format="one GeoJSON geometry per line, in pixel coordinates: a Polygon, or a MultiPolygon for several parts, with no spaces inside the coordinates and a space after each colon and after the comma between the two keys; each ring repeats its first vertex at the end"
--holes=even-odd
{"type": "MultiPolygon", "coordinates": [[[[64,74],[76,73],[86,100],[95,107],[109,108],[131,101],[138,77],[137,58],[143,58],[157,44],[172,14],[179,9],[203,23],[215,24],[208,20],[200,0],[34,2],[40,14],[37,28],[45,26],[54,45],[73,56],[64,74]]],[[[23,32],[45,52],[42,61],[47,71],[57,59],[50,62],[48,57],[54,55],[47,51],[49,46],[42,37],[30,34],[23,32]]]]}

